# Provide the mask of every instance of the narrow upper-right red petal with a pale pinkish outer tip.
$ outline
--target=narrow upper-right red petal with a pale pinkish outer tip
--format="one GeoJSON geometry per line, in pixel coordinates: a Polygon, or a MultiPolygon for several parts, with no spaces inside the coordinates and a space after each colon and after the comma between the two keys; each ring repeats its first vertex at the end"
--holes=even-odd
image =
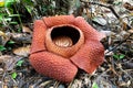
{"type": "Polygon", "coordinates": [[[104,34],[94,30],[82,16],[75,18],[73,24],[82,30],[86,40],[92,38],[101,41],[103,37],[105,37],[104,34]]]}

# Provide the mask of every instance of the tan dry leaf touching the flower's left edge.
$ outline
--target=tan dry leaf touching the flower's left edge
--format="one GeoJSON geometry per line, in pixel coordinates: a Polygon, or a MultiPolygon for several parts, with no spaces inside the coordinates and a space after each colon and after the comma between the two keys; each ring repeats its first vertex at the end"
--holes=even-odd
{"type": "Polygon", "coordinates": [[[13,53],[16,55],[19,55],[19,56],[28,56],[29,53],[30,53],[30,45],[25,46],[25,47],[18,47],[16,50],[13,50],[13,53]]]}

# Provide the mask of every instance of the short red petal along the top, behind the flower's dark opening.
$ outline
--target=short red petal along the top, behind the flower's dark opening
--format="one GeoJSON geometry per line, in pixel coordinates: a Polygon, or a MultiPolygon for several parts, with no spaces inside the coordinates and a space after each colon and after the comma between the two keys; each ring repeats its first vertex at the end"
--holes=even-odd
{"type": "Polygon", "coordinates": [[[60,25],[60,24],[71,24],[74,21],[73,15],[57,15],[50,18],[43,18],[45,25],[48,28],[60,25]]]}

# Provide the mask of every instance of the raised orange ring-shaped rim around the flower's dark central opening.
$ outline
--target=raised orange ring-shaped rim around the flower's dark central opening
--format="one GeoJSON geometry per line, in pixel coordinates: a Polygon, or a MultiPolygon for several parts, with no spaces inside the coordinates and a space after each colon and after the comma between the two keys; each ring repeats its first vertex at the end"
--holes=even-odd
{"type": "Polygon", "coordinates": [[[53,52],[55,54],[58,52],[58,54],[61,55],[61,56],[63,56],[63,57],[69,58],[72,55],[74,55],[76,53],[76,51],[81,47],[81,45],[83,43],[84,43],[84,35],[83,35],[82,31],[79,28],[76,28],[76,26],[74,26],[72,24],[55,25],[55,26],[52,26],[52,28],[48,29],[48,31],[47,31],[47,35],[45,35],[45,48],[48,50],[48,52],[53,52]],[[53,43],[52,37],[51,37],[51,32],[53,31],[53,29],[55,29],[55,28],[62,28],[62,26],[73,28],[74,30],[76,30],[79,32],[80,37],[79,37],[78,42],[75,44],[73,44],[72,46],[61,47],[61,46],[58,46],[55,43],[53,43]],[[53,50],[53,47],[55,50],[53,50]],[[73,52],[70,53],[69,51],[71,51],[71,50],[73,52]]]}

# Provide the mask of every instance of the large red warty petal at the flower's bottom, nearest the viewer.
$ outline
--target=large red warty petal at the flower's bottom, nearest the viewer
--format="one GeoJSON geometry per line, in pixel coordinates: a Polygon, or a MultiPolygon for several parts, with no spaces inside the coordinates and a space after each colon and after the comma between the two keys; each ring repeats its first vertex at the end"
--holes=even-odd
{"type": "Polygon", "coordinates": [[[32,54],[30,63],[38,73],[64,82],[70,82],[78,72],[69,59],[49,52],[32,54]]]}

